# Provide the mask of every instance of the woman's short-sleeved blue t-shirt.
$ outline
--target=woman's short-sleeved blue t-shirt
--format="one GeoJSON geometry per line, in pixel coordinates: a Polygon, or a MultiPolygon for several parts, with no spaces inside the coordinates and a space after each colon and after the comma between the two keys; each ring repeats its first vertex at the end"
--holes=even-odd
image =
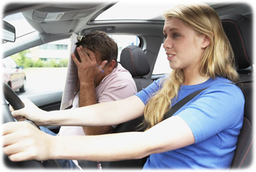
{"type": "MultiPolygon", "coordinates": [[[[161,86],[153,82],[136,94],[144,104],[150,95],[161,86]]],[[[144,169],[199,169],[230,168],[236,149],[237,136],[243,125],[244,96],[239,87],[226,78],[210,78],[198,85],[182,85],[176,101],[196,90],[209,87],[182,106],[173,116],[178,115],[190,127],[195,143],[160,154],[152,154],[144,169]]],[[[168,134],[175,131],[163,131],[168,134]]]]}

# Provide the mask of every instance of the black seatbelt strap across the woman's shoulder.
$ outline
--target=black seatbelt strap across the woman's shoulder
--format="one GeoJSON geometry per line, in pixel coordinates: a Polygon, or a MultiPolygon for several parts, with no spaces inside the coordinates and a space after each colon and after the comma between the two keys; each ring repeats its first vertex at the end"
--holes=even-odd
{"type": "Polygon", "coordinates": [[[196,92],[192,92],[191,94],[189,94],[188,96],[184,97],[183,99],[181,99],[178,103],[174,104],[171,108],[170,111],[168,111],[165,115],[164,115],[164,120],[166,118],[170,118],[172,117],[172,115],[179,110],[182,106],[184,106],[186,103],[188,103],[189,101],[191,101],[191,99],[193,99],[196,95],[198,95],[200,92],[202,92],[203,90],[207,89],[208,87],[201,89],[201,90],[197,90],[196,92]]]}

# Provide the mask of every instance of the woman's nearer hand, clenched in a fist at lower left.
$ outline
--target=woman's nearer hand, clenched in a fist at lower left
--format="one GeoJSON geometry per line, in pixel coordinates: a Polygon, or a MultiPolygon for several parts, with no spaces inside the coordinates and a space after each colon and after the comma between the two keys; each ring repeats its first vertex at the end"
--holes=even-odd
{"type": "Polygon", "coordinates": [[[11,161],[45,161],[51,157],[54,136],[43,133],[28,122],[8,122],[2,125],[2,131],[3,152],[11,161]]]}

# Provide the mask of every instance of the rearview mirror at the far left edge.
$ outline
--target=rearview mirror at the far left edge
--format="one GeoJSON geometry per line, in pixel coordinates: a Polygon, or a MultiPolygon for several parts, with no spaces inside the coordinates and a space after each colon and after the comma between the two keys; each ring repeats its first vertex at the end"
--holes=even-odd
{"type": "Polygon", "coordinates": [[[15,27],[3,20],[3,41],[15,42],[15,27]]]}

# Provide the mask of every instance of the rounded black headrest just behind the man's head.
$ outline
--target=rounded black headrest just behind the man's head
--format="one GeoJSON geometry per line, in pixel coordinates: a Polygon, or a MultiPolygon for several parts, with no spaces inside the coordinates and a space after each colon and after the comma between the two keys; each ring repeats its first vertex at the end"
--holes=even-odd
{"type": "Polygon", "coordinates": [[[120,64],[127,69],[132,77],[145,76],[150,72],[147,57],[140,47],[129,45],[122,50],[120,64]]]}

